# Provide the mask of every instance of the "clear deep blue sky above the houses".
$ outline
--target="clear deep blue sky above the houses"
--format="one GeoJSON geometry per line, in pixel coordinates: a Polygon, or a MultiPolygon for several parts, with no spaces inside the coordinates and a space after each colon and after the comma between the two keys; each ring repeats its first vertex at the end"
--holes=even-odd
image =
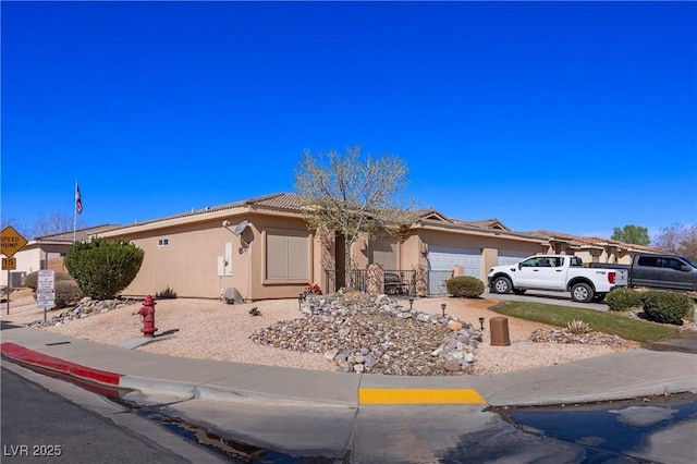
{"type": "Polygon", "coordinates": [[[695,2],[8,2],[3,224],[293,192],[305,149],[513,230],[697,222],[695,2]]]}

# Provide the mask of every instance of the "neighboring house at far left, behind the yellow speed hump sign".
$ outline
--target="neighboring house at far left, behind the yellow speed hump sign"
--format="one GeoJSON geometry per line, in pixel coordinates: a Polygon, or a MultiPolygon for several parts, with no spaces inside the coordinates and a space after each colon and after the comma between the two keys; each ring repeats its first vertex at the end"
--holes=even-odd
{"type": "MultiPolygon", "coordinates": [[[[57,272],[66,272],[63,259],[72,248],[74,241],[88,240],[93,235],[100,235],[117,227],[111,224],[97,225],[81,229],[74,233],[73,231],[62,232],[29,240],[22,249],[14,254],[17,268],[10,273],[12,286],[23,286],[24,277],[37,270],[52,269],[57,272]]],[[[1,276],[0,285],[4,286],[8,284],[8,273],[1,272],[1,276]]]]}

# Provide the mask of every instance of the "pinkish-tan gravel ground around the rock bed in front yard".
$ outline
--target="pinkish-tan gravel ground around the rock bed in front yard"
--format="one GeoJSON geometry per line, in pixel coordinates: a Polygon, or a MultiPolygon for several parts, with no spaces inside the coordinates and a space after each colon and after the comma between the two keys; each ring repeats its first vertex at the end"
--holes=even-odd
{"type": "MultiPolygon", "coordinates": [[[[621,344],[533,342],[530,334],[538,329],[551,329],[538,322],[509,317],[510,346],[491,346],[489,319],[500,316],[490,310],[499,302],[496,300],[466,300],[452,297],[417,298],[414,308],[424,313],[442,313],[441,304],[447,304],[445,313],[461,321],[479,327],[478,318],[484,317],[482,342],[476,350],[476,361],[470,374],[491,375],[512,370],[568,363],[575,359],[632,350],[638,343],[624,341],[621,344]]],[[[400,301],[408,308],[408,301],[400,301]]],[[[57,333],[89,340],[97,343],[118,344],[134,337],[140,337],[140,317],[133,315],[140,308],[140,302],[89,317],[69,320],[60,326],[46,329],[57,333]]],[[[62,310],[48,312],[48,318],[62,310]]],[[[326,359],[321,353],[302,353],[268,345],[250,340],[250,335],[278,321],[304,318],[297,300],[271,300],[241,305],[228,305],[211,300],[160,300],[156,306],[157,334],[170,333],[167,339],[140,346],[137,350],[169,356],[199,359],[218,359],[253,363],[270,366],[296,367],[315,370],[335,370],[337,365],[326,359]],[[259,316],[249,310],[256,307],[259,316]]],[[[2,320],[26,325],[42,320],[44,309],[37,308],[32,296],[13,294],[10,315],[2,307],[2,320]]],[[[416,322],[420,323],[420,322],[416,322]]],[[[538,332],[539,333],[539,332],[538,332]]],[[[538,337],[539,339],[539,337],[538,337]]],[[[435,346],[440,341],[435,341],[435,346]]],[[[350,374],[347,374],[350,375],[350,374]]]]}

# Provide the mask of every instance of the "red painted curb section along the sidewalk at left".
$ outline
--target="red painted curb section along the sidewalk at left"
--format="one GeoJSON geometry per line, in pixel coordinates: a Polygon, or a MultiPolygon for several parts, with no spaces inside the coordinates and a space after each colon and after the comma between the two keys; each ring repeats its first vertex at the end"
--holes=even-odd
{"type": "Polygon", "coordinates": [[[26,349],[12,342],[0,344],[0,352],[2,352],[3,355],[21,363],[44,367],[57,373],[68,374],[81,379],[91,380],[99,383],[118,386],[121,377],[123,377],[122,374],[114,374],[107,370],[99,370],[93,369],[91,367],[81,366],[80,364],[63,361],[59,357],[49,356],[47,354],[26,349]]]}

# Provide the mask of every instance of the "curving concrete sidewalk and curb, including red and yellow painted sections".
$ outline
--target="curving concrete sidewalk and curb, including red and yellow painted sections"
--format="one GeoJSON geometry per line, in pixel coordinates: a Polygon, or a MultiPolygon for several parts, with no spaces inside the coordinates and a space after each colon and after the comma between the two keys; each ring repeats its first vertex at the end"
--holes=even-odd
{"type": "Polygon", "coordinates": [[[402,377],[187,359],[2,323],[2,354],[102,386],[175,399],[357,407],[548,405],[697,392],[697,354],[632,350],[496,376],[402,377]],[[383,399],[383,400],[381,400],[383,399]]]}

